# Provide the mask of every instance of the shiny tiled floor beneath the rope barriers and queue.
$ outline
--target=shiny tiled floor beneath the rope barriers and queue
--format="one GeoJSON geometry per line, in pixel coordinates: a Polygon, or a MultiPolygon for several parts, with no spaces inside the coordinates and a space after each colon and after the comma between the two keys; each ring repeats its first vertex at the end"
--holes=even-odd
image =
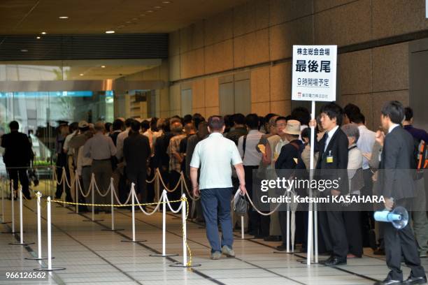
{"type": "MultiPolygon", "coordinates": [[[[45,203],[43,202],[43,205],[45,203]]],[[[15,201],[15,213],[19,213],[15,201]]],[[[36,242],[36,202],[24,202],[24,241],[36,242]]],[[[10,200],[5,200],[5,220],[10,221],[10,200]]],[[[278,242],[262,240],[239,240],[234,242],[236,258],[209,259],[208,241],[205,230],[189,221],[187,242],[192,250],[192,262],[200,267],[192,269],[174,268],[169,265],[181,261],[182,228],[180,219],[167,215],[167,253],[180,254],[170,258],[151,257],[162,251],[162,214],[145,216],[136,212],[136,239],[147,242],[121,242],[131,238],[131,212],[115,212],[116,228],[124,231],[101,231],[110,227],[110,214],[98,214],[99,222],[87,222],[89,213],[69,214],[70,209],[52,205],[52,260],[53,267],[66,270],[48,274],[43,281],[10,281],[6,272],[32,272],[45,267],[47,261],[24,259],[35,256],[36,244],[27,247],[10,245],[18,236],[0,234],[0,284],[373,284],[383,279],[387,267],[383,258],[371,256],[369,251],[363,258],[350,259],[348,265],[328,268],[324,265],[301,263],[305,254],[273,254],[278,242]],[[84,217],[85,216],[85,217],[84,217]]],[[[43,210],[42,235],[43,256],[46,256],[46,210],[43,210]]],[[[15,216],[19,231],[19,216],[15,216]]],[[[2,231],[10,230],[10,224],[1,225],[2,231]]],[[[428,268],[428,261],[425,268],[428,268]]],[[[404,276],[409,273],[404,267],[404,276]]]]}

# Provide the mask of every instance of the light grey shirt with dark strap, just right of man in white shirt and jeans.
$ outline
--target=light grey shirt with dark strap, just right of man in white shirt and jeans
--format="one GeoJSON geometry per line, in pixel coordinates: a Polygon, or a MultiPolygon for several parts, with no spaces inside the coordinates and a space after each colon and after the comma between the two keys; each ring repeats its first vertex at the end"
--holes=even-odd
{"type": "Polygon", "coordinates": [[[243,158],[244,166],[258,166],[262,160],[262,154],[257,152],[256,146],[262,138],[263,133],[258,130],[250,130],[245,141],[245,154],[243,149],[243,137],[238,139],[238,151],[243,158]]]}

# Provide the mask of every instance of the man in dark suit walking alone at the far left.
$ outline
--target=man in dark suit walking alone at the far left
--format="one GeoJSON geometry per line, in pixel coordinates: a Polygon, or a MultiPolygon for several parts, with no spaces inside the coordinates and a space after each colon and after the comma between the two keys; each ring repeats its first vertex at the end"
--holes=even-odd
{"type": "Polygon", "coordinates": [[[29,193],[29,181],[27,168],[33,157],[31,143],[24,133],[20,133],[20,125],[16,121],[9,124],[10,133],[1,137],[1,147],[4,147],[3,162],[6,164],[9,179],[13,180],[13,189],[17,191],[19,180],[22,185],[22,194],[27,199],[31,199],[29,193]]]}

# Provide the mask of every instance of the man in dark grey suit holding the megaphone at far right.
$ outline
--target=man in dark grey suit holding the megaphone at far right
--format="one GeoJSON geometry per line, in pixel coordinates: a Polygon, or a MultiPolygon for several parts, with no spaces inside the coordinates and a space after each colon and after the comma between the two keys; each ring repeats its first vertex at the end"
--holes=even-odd
{"type": "MultiPolygon", "coordinates": [[[[383,140],[383,152],[380,159],[380,193],[385,198],[385,208],[392,210],[402,206],[411,211],[412,198],[415,196],[412,162],[413,138],[400,124],[404,119],[404,107],[398,101],[390,101],[383,105],[380,121],[388,130],[385,139],[383,133],[376,134],[377,140],[383,140]]],[[[397,230],[392,224],[385,223],[385,254],[390,272],[383,282],[376,284],[425,284],[427,277],[420,265],[418,247],[411,230],[410,221],[405,228],[397,230]],[[411,275],[405,282],[401,271],[401,255],[404,263],[411,268],[411,275]]]]}

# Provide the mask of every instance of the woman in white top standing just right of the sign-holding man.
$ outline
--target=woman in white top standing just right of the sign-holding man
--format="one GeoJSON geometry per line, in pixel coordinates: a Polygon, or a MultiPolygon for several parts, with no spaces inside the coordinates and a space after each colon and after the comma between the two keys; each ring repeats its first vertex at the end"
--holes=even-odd
{"type": "MultiPolygon", "coordinates": [[[[359,196],[364,187],[362,175],[362,152],[357,148],[359,129],[356,124],[345,124],[341,127],[348,137],[348,180],[350,196],[359,196]]],[[[362,226],[361,212],[357,203],[350,203],[344,207],[343,219],[348,237],[348,258],[362,257],[362,226]]]]}

